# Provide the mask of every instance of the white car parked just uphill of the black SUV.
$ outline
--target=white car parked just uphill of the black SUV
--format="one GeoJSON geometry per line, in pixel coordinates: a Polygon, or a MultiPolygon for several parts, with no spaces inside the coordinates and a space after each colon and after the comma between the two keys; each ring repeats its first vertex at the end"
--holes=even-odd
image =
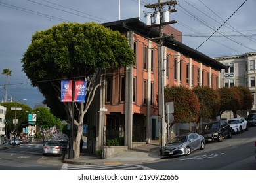
{"type": "Polygon", "coordinates": [[[232,129],[232,133],[242,133],[249,129],[248,123],[244,118],[233,118],[228,120],[228,124],[232,129]]]}

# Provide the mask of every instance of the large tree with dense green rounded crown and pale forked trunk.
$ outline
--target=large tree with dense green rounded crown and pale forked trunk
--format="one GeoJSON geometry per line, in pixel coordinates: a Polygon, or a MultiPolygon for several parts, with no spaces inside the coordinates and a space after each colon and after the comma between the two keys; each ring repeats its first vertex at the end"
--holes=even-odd
{"type": "Polygon", "coordinates": [[[22,58],[22,69],[56,116],[65,110],[68,122],[72,120],[72,103],[60,102],[60,81],[66,78],[87,82],[85,103],[74,103],[74,158],[79,158],[83,118],[102,84],[104,71],[133,62],[134,53],[127,39],[100,24],[63,23],[33,35],[22,58]]]}

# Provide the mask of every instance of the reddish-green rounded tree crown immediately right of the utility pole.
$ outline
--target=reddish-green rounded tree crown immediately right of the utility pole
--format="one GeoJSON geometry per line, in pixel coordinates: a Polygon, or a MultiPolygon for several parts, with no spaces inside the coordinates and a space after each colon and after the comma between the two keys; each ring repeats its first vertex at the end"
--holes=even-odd
{"type": "Polygon", "coordinates": [[[173,102],[174,123],[197,122],[200,103],[192,90],[184,86],[165,88],[165,102],[173,102]]]}

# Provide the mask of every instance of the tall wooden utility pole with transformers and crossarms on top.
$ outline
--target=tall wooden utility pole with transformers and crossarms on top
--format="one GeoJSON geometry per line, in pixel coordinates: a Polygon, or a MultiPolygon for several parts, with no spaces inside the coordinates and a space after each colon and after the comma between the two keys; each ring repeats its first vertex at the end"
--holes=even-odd
{"type": "MultiPolygon", "coordinates": [[[[164,103],[164,66],[163,66],[163,27],[167,24],[173,24],[177,21],[169,21],[169,12],[176,12],[175,5],[177,1],[165,1],[162,2],[158,0],[156,4],[146,5],[146,8],[153,8],[155,10],[154,17],[155,22],[154,27],[159,27],[159,37],[155,38],[159,40],[158,45],[158,116],[160,122],[160,154],[163,156],[163,147],[165,146],[165,103],[164,103]],[[163,11],[165,7],[168,7],[168,10],[163,11]],[[174,7],[174,8],[172,8],[174,7]],[[157,11],[158,10],[158,11],[157,11]],[[164,17],[164,12],[168,12],[167,17],[164,17]],[[160,20],[158,20],[158,18],[160,20]],[[163,20],[167,18],[168,20],[163,20]]],[[[146,21],[147,22],[147,21],[146,21]]]]}

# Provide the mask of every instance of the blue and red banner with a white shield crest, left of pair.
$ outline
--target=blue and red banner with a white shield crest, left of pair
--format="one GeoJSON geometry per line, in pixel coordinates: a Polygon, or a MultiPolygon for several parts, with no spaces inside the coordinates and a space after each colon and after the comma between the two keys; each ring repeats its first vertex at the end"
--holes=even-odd
{"type": "Polygon", "coordinates": [[[72,80],[61,81],[61,101],[64,103],[72,102],[72,80]]]}

